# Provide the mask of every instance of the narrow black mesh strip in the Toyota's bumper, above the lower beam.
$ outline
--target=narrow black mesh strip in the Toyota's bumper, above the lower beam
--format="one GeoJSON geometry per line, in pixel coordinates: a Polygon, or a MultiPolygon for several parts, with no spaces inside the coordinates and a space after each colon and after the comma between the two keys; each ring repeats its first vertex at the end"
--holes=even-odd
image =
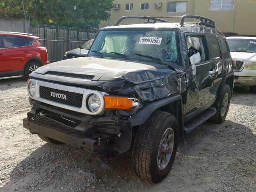
{"type": "Polygon", "coordinates": [[[83,131],[76,130],[74,128],[65,126],[64,124],[61,124],[58,121],[52,120],[50,118],[47,118],[47,117],[44,117],[44,116],[41,116],[38,114],[28,113],[28,121],[34,122],[34,123],[40,124],[40,125],[48,125],[48,126],[60,128],[66,134],[84,135],[83,131]]]}

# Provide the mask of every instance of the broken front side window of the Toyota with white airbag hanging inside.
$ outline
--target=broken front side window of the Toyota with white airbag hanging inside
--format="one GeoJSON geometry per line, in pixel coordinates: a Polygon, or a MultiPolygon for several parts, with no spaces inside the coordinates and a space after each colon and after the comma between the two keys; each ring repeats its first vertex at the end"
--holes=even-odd
{"type": "Polygon", "coordinates": [[[205,36],[187,36],[186,40],[190,64],[198,64],[209,60],[205,36]]]}

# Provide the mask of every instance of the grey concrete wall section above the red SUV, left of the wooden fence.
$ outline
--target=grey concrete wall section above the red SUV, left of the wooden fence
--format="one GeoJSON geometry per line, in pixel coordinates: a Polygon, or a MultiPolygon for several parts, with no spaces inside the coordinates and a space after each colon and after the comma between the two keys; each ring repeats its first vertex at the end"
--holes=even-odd
{"type": "Polygon", "coordinates": [[[12,31],[20,33],[29,33],[29,20],[0,18],[0,31],[12,31]]]}

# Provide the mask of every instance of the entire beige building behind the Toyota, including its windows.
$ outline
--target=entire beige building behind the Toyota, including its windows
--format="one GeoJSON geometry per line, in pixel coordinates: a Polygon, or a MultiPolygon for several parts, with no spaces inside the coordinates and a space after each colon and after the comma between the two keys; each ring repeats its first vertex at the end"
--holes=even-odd
{"type": "MultiPolygon", "coordinates": [[[[256,36],[256,0],[114,0],[111,18],[102,22],[102,26],[113,25],[127,15],[173,17],[184,14],[208,17],[216,22],[218,30],[228,35],[256,36]]],[[[124,20],[121,24],[144,21],[124,20]]],[[[180,18],[172,21],[180,21],[180,18]]]]}

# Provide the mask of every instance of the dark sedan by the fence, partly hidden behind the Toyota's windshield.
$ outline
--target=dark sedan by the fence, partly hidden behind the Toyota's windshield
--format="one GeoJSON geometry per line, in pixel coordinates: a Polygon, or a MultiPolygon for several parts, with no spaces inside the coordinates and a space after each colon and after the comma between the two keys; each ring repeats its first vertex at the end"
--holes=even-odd
{"type": "Polygon", "coordinates": [[[93,40],[94,39],[88,40],[86,43],[82,44],[79,48],[67,51],[64,54],[63,59],[72,59],[76,57],[86,56],[92,45],[93,40]]]}

